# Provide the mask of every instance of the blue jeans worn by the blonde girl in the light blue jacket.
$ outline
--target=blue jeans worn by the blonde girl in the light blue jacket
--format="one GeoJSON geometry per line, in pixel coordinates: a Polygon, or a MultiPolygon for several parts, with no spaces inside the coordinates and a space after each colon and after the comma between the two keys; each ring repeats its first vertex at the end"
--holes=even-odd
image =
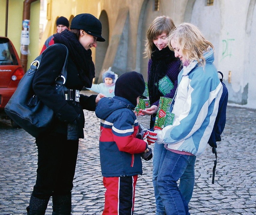
{"type": "Polygon", "coordinates": [[[188,203],[181,194],[177,181],[187,171],[188,165],[191,166],[195,162],[195,159],[196,156],[181,155],[163,149],[157,188],[167,215],[190,215],[188,203]]]}

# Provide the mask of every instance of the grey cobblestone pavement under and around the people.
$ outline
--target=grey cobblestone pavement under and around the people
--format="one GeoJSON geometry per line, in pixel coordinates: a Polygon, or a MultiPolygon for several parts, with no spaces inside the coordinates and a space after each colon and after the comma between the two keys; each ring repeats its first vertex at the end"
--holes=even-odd
{"type": "MultiPolygon", "coordinates": [[[[94,112],[84,114],[87,124],[79,146],[72,214],[98,215],[102,214],[105,192],[98,150],[99,119],[94,112]]],[[[255,110],[228,106],[226,127],[217,148],[215,184],[211,183],[215,156],[208,146],[196,161],[191,214],[256,214],[255,119],[255,110]]],[[[148,127],[149,117],[140,116],[138,121],[148,127]]],[[[23,129],[12,129],[8,120],[0,120],[0,147],[0,215],[26,214],[36,177],[35,139],[23,129]]],[[[143,175],[136,185],[135,215],[155,214],[151,178],[152,160],[143,160],[143,175]]],[[[50,209],[51,201],[46,214],[51,214],[50,209]]]]}

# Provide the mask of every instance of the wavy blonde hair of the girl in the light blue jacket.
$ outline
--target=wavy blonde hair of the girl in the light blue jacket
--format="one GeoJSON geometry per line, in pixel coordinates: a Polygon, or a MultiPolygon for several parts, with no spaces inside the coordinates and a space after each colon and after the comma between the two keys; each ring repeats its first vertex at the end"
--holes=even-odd
{"type": "Polygon", "coordinates": [[[178,47],[183,52],[183,58],[189,62],[196,60],[199,66],[205,66],[206,60],[203,53],[214,46],[207,41],[197,26],[190,23],[183,23],[175,27],[168,37],[168,46],[173,47],[171,41],[175,40],[178,47]]]}

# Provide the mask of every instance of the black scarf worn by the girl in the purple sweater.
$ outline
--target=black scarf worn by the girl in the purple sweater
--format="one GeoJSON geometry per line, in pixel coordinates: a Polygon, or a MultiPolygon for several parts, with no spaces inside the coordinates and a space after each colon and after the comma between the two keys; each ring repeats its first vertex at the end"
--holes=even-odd
{"type": "Polygon", "coordinates": [[[151,104],[156,102],[160,96],[163,96],[158,90],[158,81],[166,75],[168,64],[175,59],[174,52],[171,51],[168,46],[162,50],[158,50],[154,45],[151,54],[152,64],[149,68],[150,72],[148,77],[148,92],[151,104]],[[155,86],[155,83],[157,83],[157,86],[155,86]]]}

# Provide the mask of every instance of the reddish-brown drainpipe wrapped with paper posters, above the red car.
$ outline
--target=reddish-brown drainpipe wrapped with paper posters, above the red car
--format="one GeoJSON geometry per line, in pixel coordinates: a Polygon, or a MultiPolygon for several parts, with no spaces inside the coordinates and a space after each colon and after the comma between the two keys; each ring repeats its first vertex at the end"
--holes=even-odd
{"type": "Polygon", "coordinates": [[[25,0],[23,2],[23,19],[22,19],[22,35],[21,35],[21,54],[20,62],[23,70],[27,71],[28,53],[29,53],[29,22],[31,3],[38,0],[25,0]]]}

